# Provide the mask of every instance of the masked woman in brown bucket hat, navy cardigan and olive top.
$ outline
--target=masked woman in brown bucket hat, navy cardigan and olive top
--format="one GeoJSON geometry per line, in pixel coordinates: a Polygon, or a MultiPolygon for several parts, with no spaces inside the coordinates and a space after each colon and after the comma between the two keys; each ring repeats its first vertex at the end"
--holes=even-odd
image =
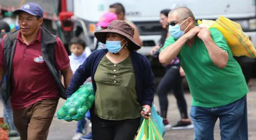
{"type": "Polygon", "coordinates": [[[93,140],[133,140],[140,117],[148,118],[155,82],[148,59],[136,52],[134,29],[115,20],[95,33],[107,49],[94,51],[76,70],[67,89],[70,97],[92,77],[95,104],[92,115],[93,140]],[[146,111],[141,111],[144,108],[146,111]]]}

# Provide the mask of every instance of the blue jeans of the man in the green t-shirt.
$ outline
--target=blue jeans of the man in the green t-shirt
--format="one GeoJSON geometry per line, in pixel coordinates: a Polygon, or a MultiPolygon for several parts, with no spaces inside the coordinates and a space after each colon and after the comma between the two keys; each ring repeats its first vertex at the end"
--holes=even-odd
{"type": "Polygon", "coordinates": [[[206,108],[192,106],[194,140],[214,140],[214,125],[220,119],[221,140],[248,140],[246,96],[228,105],[206,108]]]}

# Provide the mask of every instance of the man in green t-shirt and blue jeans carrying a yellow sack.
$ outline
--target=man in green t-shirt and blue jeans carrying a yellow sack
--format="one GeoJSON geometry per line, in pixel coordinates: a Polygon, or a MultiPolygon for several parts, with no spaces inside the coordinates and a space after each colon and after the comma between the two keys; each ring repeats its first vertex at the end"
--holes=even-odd
{"type": "Polygon", "coordinates": [[[215,28],[196,26],[193,13],[184,7],[169,13],[167,26],[171,36],[159,60],[169,64],[175,56],[180,59],[192,94],[195,140],[214,140],[218,118],[222,140],[248,140],[249,90],[223,35],[215,28]]]}

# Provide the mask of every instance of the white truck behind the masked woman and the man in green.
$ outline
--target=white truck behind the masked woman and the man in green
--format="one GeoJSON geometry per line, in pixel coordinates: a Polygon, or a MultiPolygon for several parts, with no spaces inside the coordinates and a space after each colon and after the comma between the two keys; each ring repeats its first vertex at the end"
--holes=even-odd
{"type": "MultiPolygon", "coordinates": [[[[217,19],[224,16],[240,23],[252,43],[256,46],[256,0],[74,0],[74,15],[82,21],[76,24],[76,34],[88,36],[86,40],[92,43],[96,22],[107,12],[110,4],[120,2],[126,10],[126,18],[133,21],[140,32],[143,47],[138,52],[148,56],[155,76],[163,76],[164,69],[156,58],[150,57],[150,50],[158,44],[162,28],[159,23],[160,11],[166,8],[174,9],[180,6],[188,7],[196,19],[217,19]],[[86,28],[86,29],[85,29],[86,28]],[[84,31],[86,33],[83,33],[84,31]]],[[[241,64],[244,75],[249,79],[253,72],[256,76],[255,59],[236,57],[241,64]]]]}

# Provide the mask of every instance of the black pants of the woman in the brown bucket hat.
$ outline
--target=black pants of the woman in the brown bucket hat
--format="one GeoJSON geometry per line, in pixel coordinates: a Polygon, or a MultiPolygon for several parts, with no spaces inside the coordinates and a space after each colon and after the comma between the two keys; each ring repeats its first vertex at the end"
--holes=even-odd
{"type": "Polygon", "coordinates": [[[92,140],[134,140],[140,127],[140,118],[110,121],[92,118],[92,140]]]}

